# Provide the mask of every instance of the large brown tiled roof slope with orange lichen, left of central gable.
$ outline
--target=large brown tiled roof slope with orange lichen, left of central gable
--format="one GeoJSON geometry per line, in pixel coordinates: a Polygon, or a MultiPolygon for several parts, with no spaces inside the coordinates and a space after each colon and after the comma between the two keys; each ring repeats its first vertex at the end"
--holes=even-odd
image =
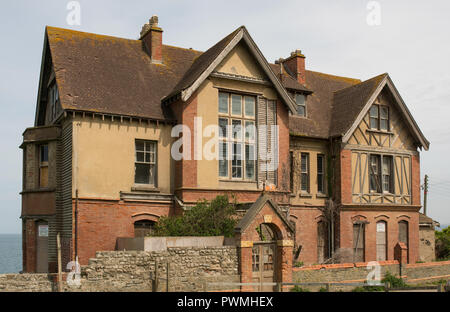
{"type": "Polygon", "coordinates": [[[163,45],[161,65],[151,63],[140,40],[55,27],[46,28],[46,38],[63,109],[155,120],[172,119],[161,98],[201,55],[163,45]]]}

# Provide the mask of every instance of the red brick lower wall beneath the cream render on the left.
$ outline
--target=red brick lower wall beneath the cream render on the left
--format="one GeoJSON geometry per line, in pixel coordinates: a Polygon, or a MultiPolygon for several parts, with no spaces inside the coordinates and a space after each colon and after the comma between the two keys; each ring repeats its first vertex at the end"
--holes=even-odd
{"type": "Polygon", "coordinates": [[[157,216],[173,214],[167,204],[125,203],[123,201],[78,201],[78,257],[82,265],[96,251],[115,250],[117,237],[134,237],[134,222],[141,213],[157,216]]]}

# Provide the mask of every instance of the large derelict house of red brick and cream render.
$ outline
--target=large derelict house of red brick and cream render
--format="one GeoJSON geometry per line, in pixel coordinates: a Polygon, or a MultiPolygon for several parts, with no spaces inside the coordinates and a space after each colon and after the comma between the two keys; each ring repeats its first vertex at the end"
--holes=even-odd
{"type": "Polygon", "coordinates": [[[397,245],[419,260],[419,150],[429,142],[388,74],[306,70],[299,50],[271,64],[245,27],[206,52],[162,35],[156,17],[139,40],[46,28],[35,124],[21,145],[25,272],[56,270],[58,232],[63,267],[75,256],[86,264],[218,194],[254,203],[236,230],[249,270],[258,224],[273,229],[274,258],[288,267],[337,250],[352,251],[345,261],[392,260],[397,245]],[[195,117],[201,131],[276,125],[277,140],[221,132],[219,151],[231,157],[191,148],[174,159],[172,129],[194,129],[195,117]],[[262,170],[267,160],[249,155],[269,150],[279,165],[262,170]]]}

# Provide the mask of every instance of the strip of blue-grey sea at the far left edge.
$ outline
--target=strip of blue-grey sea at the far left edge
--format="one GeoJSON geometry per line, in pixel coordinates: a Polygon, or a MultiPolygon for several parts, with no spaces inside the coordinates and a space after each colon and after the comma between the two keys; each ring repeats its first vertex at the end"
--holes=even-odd
{"type": "Polygon", "coordinates": [[[0,234],[0,274],[22,271],[22,235],[0,234]]]}

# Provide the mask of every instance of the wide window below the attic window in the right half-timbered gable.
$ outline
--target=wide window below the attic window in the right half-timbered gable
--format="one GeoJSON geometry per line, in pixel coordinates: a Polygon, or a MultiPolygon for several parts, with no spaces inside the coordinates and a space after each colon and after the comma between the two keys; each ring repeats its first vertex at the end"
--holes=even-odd
{"type": "Polygon", "coordinates": [[[370,191],[394,193],[393,158],[386,155],[370,155],[370,191]]]}

